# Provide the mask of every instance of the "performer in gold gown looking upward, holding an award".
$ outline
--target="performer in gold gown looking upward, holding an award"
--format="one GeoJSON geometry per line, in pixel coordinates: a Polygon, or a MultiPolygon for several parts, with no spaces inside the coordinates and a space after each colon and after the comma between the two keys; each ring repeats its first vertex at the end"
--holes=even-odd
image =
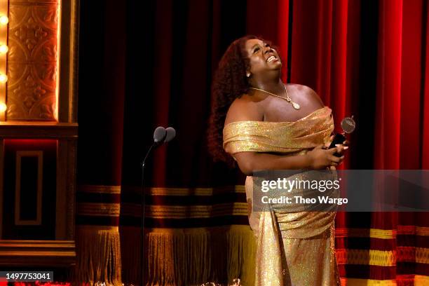
{"type": "MultiPolygon", "coordinates": [[[[255,170],[334,168],[347,149],[326,148],[334,130],[332,110],[311,88],[283,83],[281,67],[267,41],[245,36],[231,43],[214,76],[210,152],[215,160],[231,163],[233,158],[247,175],[250,206],[255,170]]],[[[285,205],[250,212],[257,236],[255,284],[340,285],[335,213],[288,212],[285,205]]]]}

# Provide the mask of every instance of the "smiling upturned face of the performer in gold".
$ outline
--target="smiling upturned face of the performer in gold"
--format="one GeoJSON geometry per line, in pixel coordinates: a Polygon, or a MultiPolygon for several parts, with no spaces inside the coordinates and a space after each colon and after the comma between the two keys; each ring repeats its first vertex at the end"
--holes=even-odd
{"type": "Polygon", "coordinates": [[[250,60],[249,72],[252,76],[257,76],[270,70],[278,70],[282,67],[277,51],[264,41],[259,39],[247,40],[245,50],[250,60]]]}

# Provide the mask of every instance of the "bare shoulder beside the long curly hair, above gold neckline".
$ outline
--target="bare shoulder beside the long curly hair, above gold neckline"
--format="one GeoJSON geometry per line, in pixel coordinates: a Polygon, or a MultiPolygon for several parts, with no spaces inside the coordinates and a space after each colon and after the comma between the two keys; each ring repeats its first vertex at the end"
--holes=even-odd
{"type": "Polygon", "coordinates": [[[262,121],[264,111],[250,95],[236,98],[228,109],[225,125],[236,121],[262,121]]]}

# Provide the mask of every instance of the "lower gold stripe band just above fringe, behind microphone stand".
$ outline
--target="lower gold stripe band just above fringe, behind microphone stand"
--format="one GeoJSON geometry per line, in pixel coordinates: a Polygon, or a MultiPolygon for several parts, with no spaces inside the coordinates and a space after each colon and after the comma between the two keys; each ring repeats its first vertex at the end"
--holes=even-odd
{"type": "MultiPolygon", "coordinates": [[[[139,217],[140,206],[124,203],[122,215],[139,217]]],[[[223,203],[217,205],[149,205],[147,217],[153,219],[197,219],[225,215],[247,216],[247,203],[223,203]]]]}

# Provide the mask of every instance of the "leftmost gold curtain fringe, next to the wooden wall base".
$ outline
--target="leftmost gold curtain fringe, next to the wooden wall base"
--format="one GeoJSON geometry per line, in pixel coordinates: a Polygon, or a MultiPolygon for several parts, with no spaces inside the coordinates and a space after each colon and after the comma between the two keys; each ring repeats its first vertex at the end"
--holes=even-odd
{"type": "Polygon", "coordinates": [[[75,280],[122,285],[118,226],[76,226],[75,280]]]}

